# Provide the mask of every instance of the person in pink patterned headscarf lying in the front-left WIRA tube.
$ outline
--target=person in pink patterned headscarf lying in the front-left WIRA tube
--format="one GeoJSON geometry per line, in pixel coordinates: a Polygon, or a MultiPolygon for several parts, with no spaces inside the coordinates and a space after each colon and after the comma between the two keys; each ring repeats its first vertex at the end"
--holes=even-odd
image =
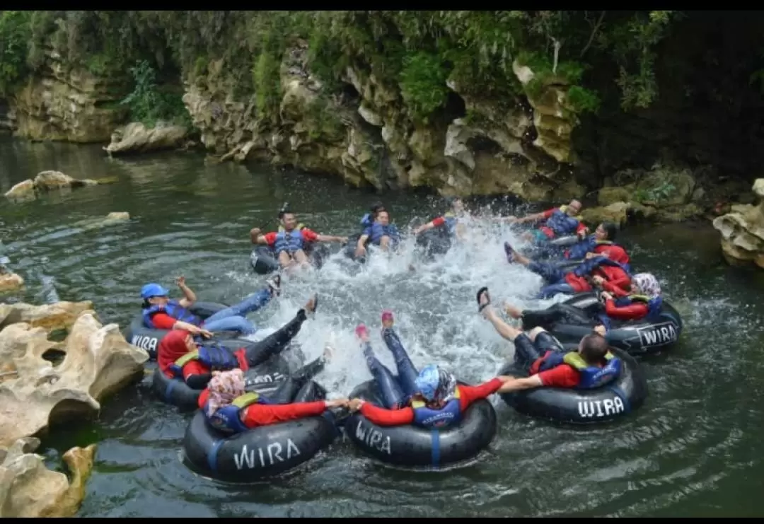
{"type": "Polygon", "coordinates": [[[320,416],[327,409],[345,408],[348,399],[315,400],[311,382],[319,374],[332,350],[290,374],[270,395],[248,393],[241,369],[214,371],[212,380],[199,395],[199,408],[213,428],[225,433],[246,432],[264,425],[320,416]]]}

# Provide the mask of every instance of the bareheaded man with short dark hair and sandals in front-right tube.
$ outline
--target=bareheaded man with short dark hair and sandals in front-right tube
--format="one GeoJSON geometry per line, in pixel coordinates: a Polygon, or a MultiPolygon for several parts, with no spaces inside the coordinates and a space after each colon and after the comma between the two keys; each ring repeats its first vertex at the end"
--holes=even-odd
{"type": "Polygon", "coordinates": [[[604,386],[620,375],[623,363],[610,353],[603,326],[597,326],[591,335],[584,335],[577,349],[565,351],[544,328],[523,332],[504,322],[490,305],[487,288],[478,292],[478,312],[494,325],[499,335],[515,344],[515,362],[529,374],[526,378],[507,380],[497,393],[542,386],[588,390],[604,386]]]}

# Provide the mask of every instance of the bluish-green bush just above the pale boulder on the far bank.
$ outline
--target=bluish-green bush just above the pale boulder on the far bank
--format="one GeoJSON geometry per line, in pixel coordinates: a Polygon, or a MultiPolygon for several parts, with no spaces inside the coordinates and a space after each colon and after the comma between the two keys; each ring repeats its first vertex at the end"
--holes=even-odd
{"type": "Polygon", "coordinates": [[[162,92],[157,87],[154,68],[147,60],[139,60],[130,68],[135,87],[120,103],[130,108],[132,120],[151,128],[157,121],[190,124],[189,114],[179,93],[162,92]]]}

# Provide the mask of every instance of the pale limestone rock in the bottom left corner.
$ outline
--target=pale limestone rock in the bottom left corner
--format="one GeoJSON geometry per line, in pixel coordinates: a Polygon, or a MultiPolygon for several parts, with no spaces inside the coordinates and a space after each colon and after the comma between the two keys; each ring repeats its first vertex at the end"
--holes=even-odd
{"type": "Polygon", "coordinates": [[[63,461],[71,475],[50,471],[35,454],[40,441],[19,438],[0,448],[0,518],[73,516],[85,497],[95,444],[71,448],[63,461]]]}

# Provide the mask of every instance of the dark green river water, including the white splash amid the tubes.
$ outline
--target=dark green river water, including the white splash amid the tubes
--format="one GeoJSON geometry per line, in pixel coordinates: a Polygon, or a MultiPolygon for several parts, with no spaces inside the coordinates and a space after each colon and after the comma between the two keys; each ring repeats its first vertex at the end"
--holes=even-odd
{"type": "MultiPolygon", "coordinates": [[[[233,302],[264,277],[248,264],[248,231],[273,228],[282,202],[309,227],[358,231],[379,197],[332,178],[234,163],[197,154],[109,159],[99,147],[0,138],[0,190],[42,170],[115,183],[0,202],[0,249],[27,280],[7,300],[92,300],[103,322],[124,327],[138,312],[140,287],[174,289],[183,274],[199,299],[233,302]],[[104,228],[77,224],[108,212],[131,220],[104,228]]],[[[442,212],[432,196],[390,194],[393,219],[442,212]]],[[[443,364],[469,381],[492,377],[511,358],[476,313],[475,292],[533,305],[539,278],[503,258],[508,228],[471,227],[469,247],[430,264],[410,254],[372,257],[351,270],[338,257],[285,279],[282,296],[251,318],[262,328],[290,319],[309,293],[316,318],[297,337],[305,358],[329,342],[336,355],[319,376],[345,396],[370,375],[352,329],[370,326],[377,354],[392,364],[377,326],[382,307],[415,364],[443,364]]],[[[659,275],[685,320],[679,344],[643,361],[646,404],[614,425],[575,429],[520,416],[494,398],[499,435],[476,464],[441,473],[392,471],[336,442],[305,471],[269,484],[231,486],[197,477],[179,461],[190,416],[151,396],[148,380],[104,403],[99,419],[56,428],[44,438],[52,467],[73,445],[97,442],[80,516],[754,516],[764,487],[764,364],[760,273],[733,270],[707,226],[629,228],[633,266],[659,275]]]]}

